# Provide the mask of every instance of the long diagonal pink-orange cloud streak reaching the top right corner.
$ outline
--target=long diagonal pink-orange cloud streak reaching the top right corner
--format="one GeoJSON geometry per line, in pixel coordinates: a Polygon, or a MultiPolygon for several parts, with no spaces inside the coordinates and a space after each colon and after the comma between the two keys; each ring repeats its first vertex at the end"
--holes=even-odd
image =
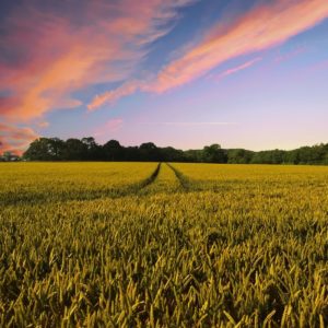
{"type": "Polygon", "coordinates": [[[229,59],[282,44],[327,16],[327,0],[278,0],[256,7],[227,28],[214,26],[201,43],[166,66],[149,91],[161,93],[188,83],[229,59]]]}

